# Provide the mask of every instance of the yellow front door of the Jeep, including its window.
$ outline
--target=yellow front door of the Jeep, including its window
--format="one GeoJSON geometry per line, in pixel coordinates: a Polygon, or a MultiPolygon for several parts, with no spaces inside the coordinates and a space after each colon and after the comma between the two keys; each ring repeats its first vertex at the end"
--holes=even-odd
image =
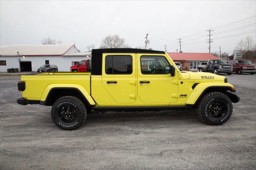
{"type": "Polygon", "coordinates": [[[138,97],[143,103],[174,103],[178,100],[178,73],[169,74],[166,55],[137,54],[138,97]]]}

